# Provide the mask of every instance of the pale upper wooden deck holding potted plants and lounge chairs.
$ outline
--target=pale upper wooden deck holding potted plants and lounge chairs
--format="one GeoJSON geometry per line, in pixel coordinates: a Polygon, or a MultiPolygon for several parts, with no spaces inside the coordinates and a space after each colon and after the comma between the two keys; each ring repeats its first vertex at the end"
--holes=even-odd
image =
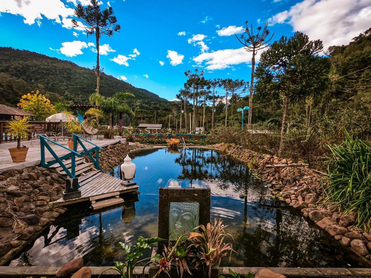
{"type": "MultiPolygon", "coordinates": [[[[102,137],[102,136],[100,136],[102,137]]],[[[91,142],[95,143],[98,146],[105,147],[108,145],[112,145],[121,141],[124,141],[125,139],[122,139],[119,136],[115,136],[114,139],[96,139],[96,136],[92,136],[91,142]]],[[[67,146],[67,140],[59,140],[58,143],[62,144],[63,146],[67,146]]],[[[10,157],[10,153],[8,148],[15,148],[17,146],[17,142],[11,142],[11,143],[2,143],[0,144],[0,173],[8,170],[8,169],[23,169],[27,168],[29,166],[33,165],[39,165],[40,164],[40,141],[39,140],[33,140],[32,145],[31,141],[22,141],[21,145],[24,145],[26,147],[29,147],[26,161],[24,162],[13,162],[12,158],[10,157]]],[[[87,142],[84,142],[84,145],[86,148],[92,148],[89,146],[90,144],[87,142]]],[[[68,153],[68,150],[63,149],[53,143],[50,143],[50,147],[55,151],[55,153],[60,157],[68,153]]],[[[81,146],[78,147],[78,152],[82,152],[81,146]]],[[[49,151],[45,151],[45,160],[46,162],[53,160],[53,156],[49,153],[49,151]]]]}

